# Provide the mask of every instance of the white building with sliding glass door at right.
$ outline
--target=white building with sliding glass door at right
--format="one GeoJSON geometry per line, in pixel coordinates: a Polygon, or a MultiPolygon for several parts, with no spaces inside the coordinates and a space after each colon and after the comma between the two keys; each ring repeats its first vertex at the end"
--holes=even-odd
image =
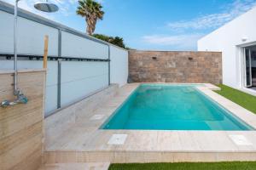
{"type": "Polygon", "coordinates": [[[198,51],[223,56],[223,83],[256,94],[256,8],[198,41],[198,51]]]}

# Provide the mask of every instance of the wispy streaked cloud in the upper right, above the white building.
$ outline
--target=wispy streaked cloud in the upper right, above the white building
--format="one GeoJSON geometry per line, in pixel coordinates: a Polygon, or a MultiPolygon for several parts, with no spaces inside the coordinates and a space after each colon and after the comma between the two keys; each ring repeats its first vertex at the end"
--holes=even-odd
{"type": "Polygon", "coordinates": [[[168,26],[174,30],[195,29],[202,30],[223,26],[226,22],[233,20],[240,14],[256,5],[256,0],[236,0],[234,3],[224,7],[224,12],[219,14],[207,14],[192,20],[181,20],[169,23],[168,26]]]}

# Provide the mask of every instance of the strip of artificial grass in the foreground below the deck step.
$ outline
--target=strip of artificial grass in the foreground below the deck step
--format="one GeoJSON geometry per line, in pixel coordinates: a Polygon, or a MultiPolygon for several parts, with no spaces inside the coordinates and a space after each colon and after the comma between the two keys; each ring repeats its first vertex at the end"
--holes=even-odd
{"type": "Polygon", "coordinates": [[[108,170],[255,170],[256,161],[111,164],[108,170]]]}

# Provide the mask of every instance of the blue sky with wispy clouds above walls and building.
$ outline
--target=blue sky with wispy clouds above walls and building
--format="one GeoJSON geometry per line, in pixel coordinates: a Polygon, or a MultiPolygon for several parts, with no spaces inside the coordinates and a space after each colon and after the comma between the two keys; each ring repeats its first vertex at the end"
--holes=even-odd
{"type": "MultiPolygon", "coordinates": [[[[105,15],[95,33],[123,37],[128,47],[152,50],[196,50],[198,39],[256,5],[256,0],[97,1],[102,3],[105,15]]],[[[20,8],[85,31],[84,19],[75,14],[77,0],[51,2],[61,10],[55,14],[38,12],[32,7],[34,0],[21,0],[20,8]]]]}

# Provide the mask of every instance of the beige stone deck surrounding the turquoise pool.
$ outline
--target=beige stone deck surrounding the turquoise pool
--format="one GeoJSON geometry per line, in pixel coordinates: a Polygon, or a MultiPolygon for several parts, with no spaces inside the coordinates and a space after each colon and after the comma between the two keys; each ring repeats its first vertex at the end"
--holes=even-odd
{"type": "MultiPolygon", "coordinates": [[[[139,86],[119,88],[113,99],[79,117],[54,141],[45,143],[44,162],[177,162],[256,161],[256,131],[102,130],[102,123],[139,86]]],[[[256,128],[256,115],[212,92],[197,87],[244,122],[256,128]]]]}

